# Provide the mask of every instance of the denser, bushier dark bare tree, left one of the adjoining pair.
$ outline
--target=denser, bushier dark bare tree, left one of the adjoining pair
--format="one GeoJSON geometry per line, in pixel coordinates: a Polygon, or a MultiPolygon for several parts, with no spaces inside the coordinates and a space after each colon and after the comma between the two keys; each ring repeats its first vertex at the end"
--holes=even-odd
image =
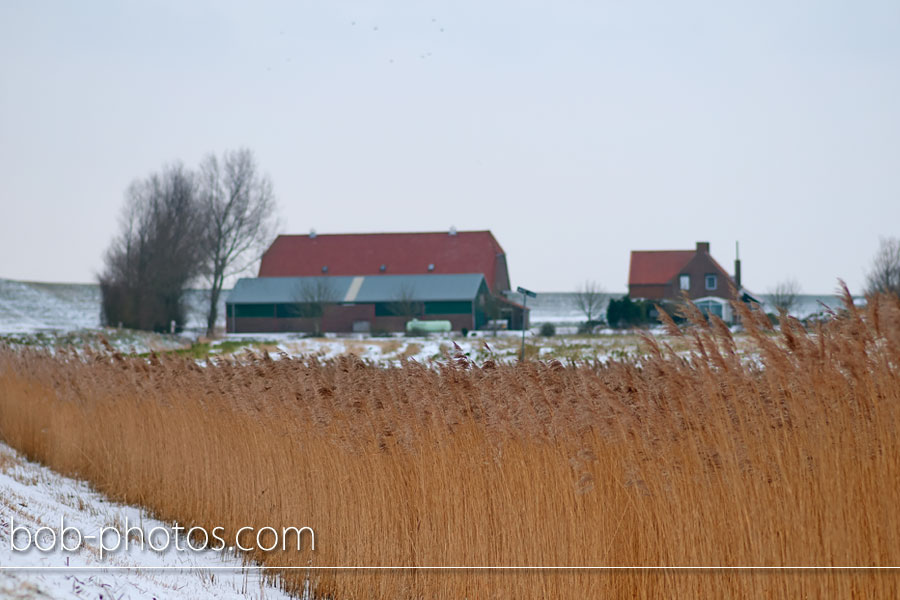
{"type": "Polygon", "coordinates": [[[199,275],[202,219],[193,175],[180,164],[131,184],[121,232],[100,275],[105,323],[168,331],[185,321],[184,290],[199,275]]]}

